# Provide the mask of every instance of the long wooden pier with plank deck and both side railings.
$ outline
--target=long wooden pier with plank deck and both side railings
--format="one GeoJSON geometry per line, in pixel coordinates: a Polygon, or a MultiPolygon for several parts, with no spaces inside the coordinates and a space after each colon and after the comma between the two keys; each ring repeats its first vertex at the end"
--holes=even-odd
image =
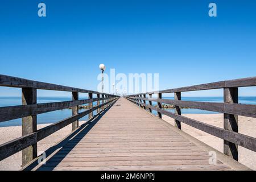
{"type": "Polygon", "coordinates": [[[233,125],[237,122],[237,115],[255,117],[255,105],[235,103],[238,86],[255,85],[256,77],[253,77],[242,82],[233,80],[118,97],[0,75],[0,86],[20,87],[23,99],[30,101],[23,102],[22,106],[0,107],[0,122],[23,117],[26,131],[23,137],[0,145],[0,160],[23,150],[23,170],[249,170],[237,162],[237,146],[256,151],[256,139],[239,134],[233,125]],[[232,87],[227,88],[227,85],[232,87]],[[180,101],[181,92],[217,88],[224,88],[226,103],[180,101]],[[72,92],[73,101],[36,104],[33,89],[72,92]],[[88,100],[79,100],[78,92],[88,93],[88,100]],[[170,92],[175,93],[176,100],[162,99],[162,93],[170,92]],[[152,94],[158,94],[158,98],[152,98],[152,94]],[[92,102],[97,102],[97,105],[93,106],[92,102]],[[157,102],[157,107],[152,102],[157,102]],[[162,103],[175,105],[176,113],[162,109],[162,103]],[[89,104],[90,109],[78,113],[77,107],[82,104],[89,104]],[[71,117],[36,130],[36,114],[70,106],[73,107],[71,117]],[[217,110],[224,113],[224,121],[233,122],[233,127],[220,129],[183,117],[179,106],[217,110]],[[97,110],[96,115],[92,114],[93,110],[97,110]],[[158,115],[152,114],[152,110],[158,115]],[[79,126],[78,119],[87,114],[89,120],[79,126]],[[162,114],[174,118],[176,127],[163,121],[162,114]],[[224,139],[225,154],[185,134],[181,130],[182,122],[224,139]],[[39,163],[42,156],[36,155],[36,143],[69,124],[73,125],[73,132],[46,151],[46,164],[39,163]]]}

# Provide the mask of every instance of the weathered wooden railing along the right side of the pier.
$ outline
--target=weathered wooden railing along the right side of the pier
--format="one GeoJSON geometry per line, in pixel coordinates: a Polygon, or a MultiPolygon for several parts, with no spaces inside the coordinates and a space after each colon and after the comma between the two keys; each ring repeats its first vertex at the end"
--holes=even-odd
{"type": "Polygon", "coordinates": [[[157,111],[159,118],[162,118],[162,114],[174,118],[175,126],[179,129],[181,129],[181,123],[183,122],[196,129],[223,139],[224,154],[232,156],[233,159],[238,160],[238,146],[256,152],[256,138],[238,133],[238,115],[253,118],[256,117],[256,105],[238,104],[238,88],[247,86],[256,86],[256,77],[133,94],[125,96],[125,98],[151,113],[152,110],[157,111]],[[195,102],[181,100],[181,92],[210,89],[224,89],[224,102],[195,102]],[[165,93],[174,93],[175,100],[163,99],[162,94],[165,93]],[[152,94],[157,94],[157,98],[152,98],[152,94]],[[146,104],[146,101],[148,104],[146,104]],[[156,107],[152,105],[152,102],[157,102],[156,107]],[[175,113],[162,109],[162,103],[174,105],[175,113]],[[181,115],[181,107],[224,113],[224,128],[222,129],[220,127],[208,125],[204,122],[196,121],[195,119],[184,117],[181,115]]]}

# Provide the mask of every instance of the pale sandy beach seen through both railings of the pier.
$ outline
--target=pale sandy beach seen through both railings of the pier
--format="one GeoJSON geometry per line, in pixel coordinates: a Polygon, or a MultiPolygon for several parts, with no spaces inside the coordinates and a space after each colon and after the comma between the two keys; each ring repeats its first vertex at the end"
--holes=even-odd
{"type": "MultiPolygon", "coordinates": [[[[183,114],[186,117],[196,119],[208,123],[213,126],[223,128],[223,115],[222,114],[183,114]]],[[[174,125],[174,119],[163,116],[163,119],[172,125],[174,125]]],[[[80,122],[80,125],[84,122],[80,122]]],[[[38,129],[48,125],[38,125],[38,129]]],[[[56,133],[50,135],[46,139],[41,140],[38,143],[38,152],[45,151],[47,148],[53,146],[55,143],[59,142],[69,133],[71,133],[72,126],[66,126],[63,129],[57,131],[56,133]]],[[[213,137],[203,131],[194,129],[184,123],[181,123],[181,129],[192,135],[193,137],[207,143],[209,146],[216,148],[216,150],[223,152],[223,140],[217,137],[213,137]]],[[[239,132],[251,137],[256,137],[256,118],[249,117],[239,117],[239,132]]],[[[12,127],[0,127],[0,143],[8,142],[12,139],[18,138],[22,135],[21,126],[12,127]]],[[[256,152],[247,150],[246,148],[239,147],[239,162],[245,166],[256,170],[256,152]]],[[[21,152],[10,156],[9,158],[2,160],[0,162],[0,170],[19,170],[22,164],[21,152]]]]}

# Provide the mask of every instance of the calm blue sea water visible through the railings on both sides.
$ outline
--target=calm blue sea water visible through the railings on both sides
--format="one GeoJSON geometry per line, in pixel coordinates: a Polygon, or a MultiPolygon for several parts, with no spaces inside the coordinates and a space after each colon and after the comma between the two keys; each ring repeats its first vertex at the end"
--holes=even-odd
{"type": "MultiPolygon", "coordinates": [[[[80,99],[86,99],[88,97],[80,97],[80,99]]],[[[174,97],[163,97],[174,100],[174,97]]],[[[38,97],[38,104],[39,103],[47,103],[47,102],[61,102],[61,101],[70,101],[70,97],[38,97]]],[[[182,97],[183,101],[199,101],[199,102],[223,102],[223,97],[182,97]]],[[[256,97],[239,97],[240,104],[254,104],[256,105],[256,97]]],[[[0,107],[4,106],[15,106],[21,105],[22,101],[20,97],[0,97],[0,107]]],[[[153,102],[153,105],[156,103],[153,102]]],[[[96,105],[96,102],[93,103],[96,105]]],[[[80,109],[79,112],[84,111],[85,109],[80,109]]],[[[174,109],[168,109],[169,111],[174,113],[174,109]]],[[[153,111],[156,114],[155,111],[153,111]]],[[[181,113],[183,114],[215,114],[216,112],[212,111],[205,111],[199,109],[181,109],[181,113]]],[[[96,111],[94,111],[96,114],[96,111]]],[[[61,121],[61,119],[65,119],[72,115],[71,109],[63,109],[52,111],[49,113],[39,114],[38,115],[38,124],[45,124],[45,123],[54,123],[57,121],[61,121]]],[[[88,116],[81,118],[80,121],[84,121],[88,119],[88,116]]],[[[0,127],[4,126],[20,126],[22,123],[22,119],[14,119],[11,121],[1,122],[0,127]]]]}

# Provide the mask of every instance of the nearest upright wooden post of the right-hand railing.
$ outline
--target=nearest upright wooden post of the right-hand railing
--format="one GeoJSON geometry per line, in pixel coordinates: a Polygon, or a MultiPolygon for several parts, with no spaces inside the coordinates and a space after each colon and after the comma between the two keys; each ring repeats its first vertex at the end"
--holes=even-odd
{"type": "MultiPolygon", "coordinates": [[[[224,88],[224,102],[238,104],[238,88],[224,88]]],[[[238,132],[238,115],[224,113],[224,129],[238,132]]],[[[224,140],[224,154],[238,161],[237,144],[224,140]]]]}

